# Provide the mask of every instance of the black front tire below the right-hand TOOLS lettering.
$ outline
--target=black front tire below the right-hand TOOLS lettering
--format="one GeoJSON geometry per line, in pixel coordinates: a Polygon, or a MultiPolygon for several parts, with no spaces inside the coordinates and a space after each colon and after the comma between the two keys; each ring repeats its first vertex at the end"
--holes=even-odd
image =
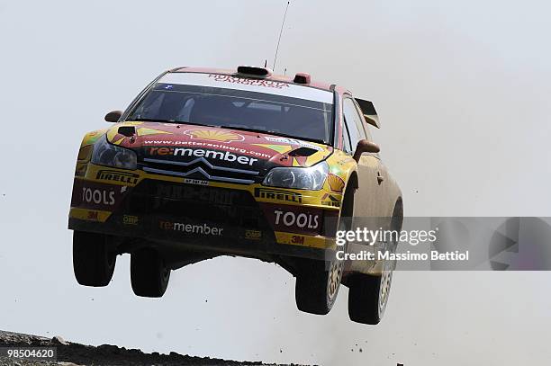
{"type": "Polygon", "coordinates": [[[296,275],[294,299],[296,307],[306,313],[325,315],[337,299],[342,278],[342,262],[305,260],[296,275]],[[339,268],[335,269],[332,266],[339,268]],[[330,269],[333,268],[333,271],[330,269]],[[339,271],[335,274],[335,271],[339,271]],[[330,275],[338,276],[330,281],[330,275]]]}

